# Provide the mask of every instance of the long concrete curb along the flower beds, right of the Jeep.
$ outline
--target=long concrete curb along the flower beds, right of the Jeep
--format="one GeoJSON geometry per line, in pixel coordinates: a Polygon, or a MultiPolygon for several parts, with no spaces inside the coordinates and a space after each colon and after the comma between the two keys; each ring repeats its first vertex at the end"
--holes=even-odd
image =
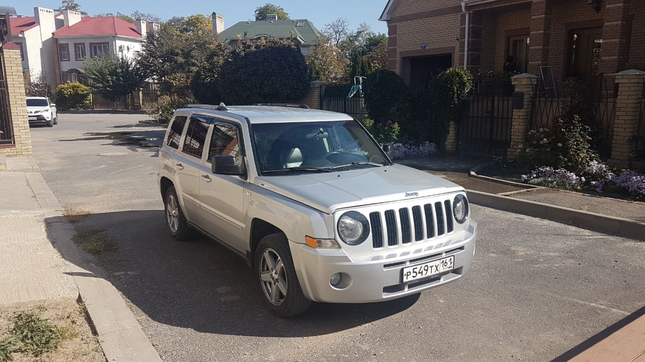
{"type": "Polygon", "coordinates": [[[473,204],[645,241],[645,223],[568,207],[466,190],[473,204]]]}

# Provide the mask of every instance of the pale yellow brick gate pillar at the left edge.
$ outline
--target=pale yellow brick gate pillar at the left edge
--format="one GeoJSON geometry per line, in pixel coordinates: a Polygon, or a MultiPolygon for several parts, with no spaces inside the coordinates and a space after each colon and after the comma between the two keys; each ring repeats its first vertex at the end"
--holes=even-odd
{"type": "Polygon", "coordinates": [[[20,60],[20,49],[14,43],[3,44],[0,50],[3,58],[6,91],[8,99],[8,114],[11,117],[14,144],[3,145],[0,155],[32,155],[32,137],[27,119],[27,104],[25,100],[25,77],[20,60]]]}

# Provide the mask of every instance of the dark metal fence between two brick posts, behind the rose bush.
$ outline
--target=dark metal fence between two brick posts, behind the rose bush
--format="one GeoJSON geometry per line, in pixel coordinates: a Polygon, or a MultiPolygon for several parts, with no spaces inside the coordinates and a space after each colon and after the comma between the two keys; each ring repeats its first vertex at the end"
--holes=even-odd
{"type": "Polygon", "coordinates": [[[535,88],[531,105],[531,129],[551,128],[572,109],[591,126],[592,144],[603,157],[611,155],[617,90],[613,78],[597,77],[588,84],[557,82],[557,96],[548,97],[541,84],[535,88]],[[572,85],[573,84],[573,85],[572,85]]]}

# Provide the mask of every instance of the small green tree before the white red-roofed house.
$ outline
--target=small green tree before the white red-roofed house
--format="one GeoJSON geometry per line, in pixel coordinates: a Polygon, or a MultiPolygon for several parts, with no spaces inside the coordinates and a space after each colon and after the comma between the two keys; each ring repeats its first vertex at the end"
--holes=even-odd
{"type": "Polygon", "coordinates": [[[84,75],[92,90],[119,107],[119,99],[141,88],[146,77],[134,61],[109,54],[97,59],[85,59],[84,75]]]}

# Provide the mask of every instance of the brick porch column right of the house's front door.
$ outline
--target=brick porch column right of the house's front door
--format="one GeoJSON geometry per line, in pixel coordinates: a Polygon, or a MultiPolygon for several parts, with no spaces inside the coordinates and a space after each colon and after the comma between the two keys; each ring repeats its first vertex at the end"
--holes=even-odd
{"type": "MultiPolygon", "coordinates": [[[[600,49],[600,73],[615,73],[628,62],[630,54],[630,14],[628,0],[604,0],[604,25],[600,49]]],[[[533,39],[531,39],[532,41],[533,39]]]]}

